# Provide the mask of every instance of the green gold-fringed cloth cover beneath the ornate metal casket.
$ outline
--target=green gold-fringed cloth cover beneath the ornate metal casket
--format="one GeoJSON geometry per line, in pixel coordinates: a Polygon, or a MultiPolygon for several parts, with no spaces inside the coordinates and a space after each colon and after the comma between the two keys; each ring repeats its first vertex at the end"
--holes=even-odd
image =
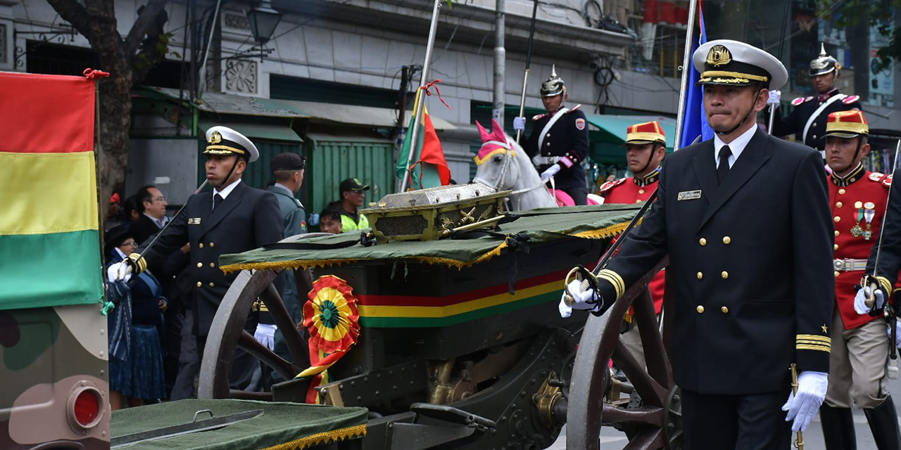
{"type": "MultiPolygon", "coordinates": [[[[530,245],[569,238],[609,238],[625,229],[642,204],[571,206],[516,212],[519,219],[496,229],[505,236],[525,233],[530,245]]],[[[301,239],[305,249],[255,249],[223,255],[224,271],[284,267],[316,267],[350,264],[363,260],[411,259],[432,264],[465,267],[487,261],[504,251],[504,237],[395,241],[364,247],[333,248],[359,239],[358,232],[301,239]],[[329,248],[332,247],[332,248],[329,248]]]]}

